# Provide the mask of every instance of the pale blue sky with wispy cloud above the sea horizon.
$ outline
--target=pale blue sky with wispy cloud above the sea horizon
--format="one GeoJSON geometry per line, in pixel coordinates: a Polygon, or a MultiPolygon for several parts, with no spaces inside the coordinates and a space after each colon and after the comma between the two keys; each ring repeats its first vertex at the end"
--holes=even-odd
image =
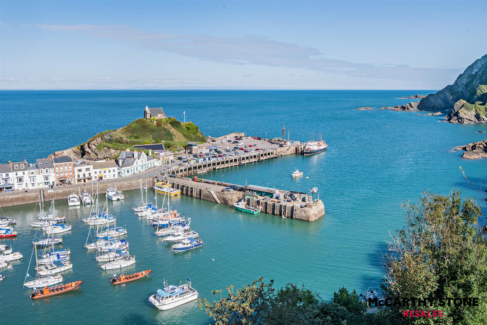
{"type": "Polygon", "coordinates": [[[0,89],[441,89],[478,1],[0,1],[0,89]]]}

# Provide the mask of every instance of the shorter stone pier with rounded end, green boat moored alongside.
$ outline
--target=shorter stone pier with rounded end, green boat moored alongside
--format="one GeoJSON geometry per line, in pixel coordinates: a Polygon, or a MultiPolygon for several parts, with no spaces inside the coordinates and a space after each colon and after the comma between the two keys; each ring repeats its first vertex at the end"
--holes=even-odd
{"type": "MultiPolygon", "coordinates": [[[[306,193],[296,193],[300,197],[300,201],[286,201],[285,199],[271,198],[266,195],[253,193],[244,193],[242,191],[223,191],[229,184],[216,182],[206,179],[194,180],[186,177],[169,177],[160,176],[160,181],[164,181],[174,189],[180,190],[181,194],[199,198],[206,201],[215,202],[218,204],[226,204],[232,206],[243,197],[248,205],[253,207],[261,206],[261,212],[279,215],[281,217],[300,219],[304,221],[315,221],[325,214],[325,207],[323,202],[319,199],[312,198],[306,193]]],[[[240,185],[238,185],[240,186],[240,185]]],[[[243,186],[241,186],[244,188],[243,186]]]]}

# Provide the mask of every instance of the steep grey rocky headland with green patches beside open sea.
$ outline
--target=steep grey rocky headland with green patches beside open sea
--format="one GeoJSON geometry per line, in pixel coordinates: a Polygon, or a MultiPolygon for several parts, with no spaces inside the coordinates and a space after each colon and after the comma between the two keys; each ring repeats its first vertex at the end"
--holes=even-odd
{"type": "Polygon", "coordinates": [[[487,54],[470,64],[452,85],[421,99],[417,109],[451,111],[448,120],[453,123],[485,123],[486,101],[487,54]]]}

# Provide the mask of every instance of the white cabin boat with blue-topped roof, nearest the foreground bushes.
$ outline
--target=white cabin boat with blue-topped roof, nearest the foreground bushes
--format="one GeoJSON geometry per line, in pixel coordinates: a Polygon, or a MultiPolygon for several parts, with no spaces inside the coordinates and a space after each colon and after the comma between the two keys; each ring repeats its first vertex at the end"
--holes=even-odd
{"type": "Polygon", "coordinates": [[[198,292],[191,287],[191,280],[186,279],[186,284],[180,286],[168,286],[164,281],[164,287],[150,296],[149,301],[159,310],[168,310],[198,298],[198,292]]]}

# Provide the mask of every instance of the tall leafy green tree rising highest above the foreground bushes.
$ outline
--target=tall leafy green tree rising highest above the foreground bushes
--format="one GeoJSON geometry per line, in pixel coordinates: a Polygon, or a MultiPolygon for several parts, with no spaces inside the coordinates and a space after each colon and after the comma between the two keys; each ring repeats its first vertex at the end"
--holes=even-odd
{"type": "MultiPolygon", "coordinates": [[[[487,240],[480,231],[481,208],[475,199],[462,201],[460,191],[450,195],[425,192],[417,204],[403,205],[406,226],[388,244],[386,296],[429,297],[434,305],[415,309],[442,310],[434,324],[485,324],[487,315],[487,240]],[[478,297],[480,306],[439,306],[446,297],[478,297]]],[[[416,305],[417,306],[417,305],[416,305]]],[[[402,309],[389,313],[405,321],[402,309]]],[[[407,318],[431,324],[428,317],[407,318]]]]}

